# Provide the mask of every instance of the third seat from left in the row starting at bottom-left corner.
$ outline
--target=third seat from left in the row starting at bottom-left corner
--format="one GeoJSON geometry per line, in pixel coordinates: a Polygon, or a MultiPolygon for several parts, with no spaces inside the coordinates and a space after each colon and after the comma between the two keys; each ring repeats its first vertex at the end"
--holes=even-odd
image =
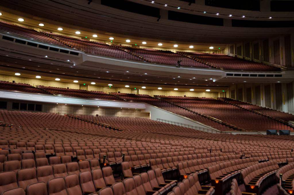
{"type": "Polygon", "coordinates": [[[47,183],[48,195],[67,195],[64,178],[50,179],[47,183]]]}

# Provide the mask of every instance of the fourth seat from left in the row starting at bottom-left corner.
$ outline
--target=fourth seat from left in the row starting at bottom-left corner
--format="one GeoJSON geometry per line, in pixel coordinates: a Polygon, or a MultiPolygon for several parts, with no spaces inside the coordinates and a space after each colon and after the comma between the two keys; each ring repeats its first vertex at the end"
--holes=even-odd
{"type": "Polygon", "coordinates": [[[79,178],[76,174],[67,175],[64,177],[65,188],[68,195],[82,195],[79,178]]]}

